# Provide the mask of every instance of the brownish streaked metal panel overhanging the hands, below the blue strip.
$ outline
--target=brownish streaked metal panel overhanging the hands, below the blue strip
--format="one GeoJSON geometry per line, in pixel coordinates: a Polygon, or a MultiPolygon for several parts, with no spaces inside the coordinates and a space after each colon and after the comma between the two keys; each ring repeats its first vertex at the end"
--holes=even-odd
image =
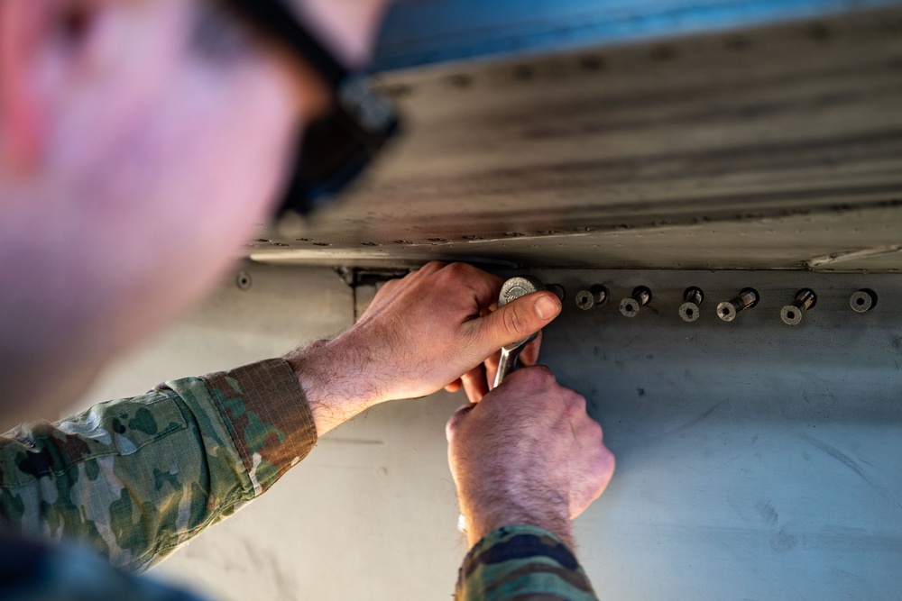
{"type": "Polygon", "coordinates": [[[902,9],[382,84],[407,138],[254,260],[902,268],[902,9]]]}

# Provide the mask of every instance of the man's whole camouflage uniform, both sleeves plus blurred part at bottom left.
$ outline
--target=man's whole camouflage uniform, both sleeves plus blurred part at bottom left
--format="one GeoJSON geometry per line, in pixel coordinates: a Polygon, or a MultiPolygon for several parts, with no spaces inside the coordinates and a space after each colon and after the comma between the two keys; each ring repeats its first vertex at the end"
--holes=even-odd
{"type": "MultiPolygon", "coordinates": [[[[140,572],[262,495],[316,442],[313,414],[284,360],[173,380],[59,423],[20,426],[0,437],[8,533],[0,566],[12,566],[0,568],[0,598],[194,599],[85,551],[12,534],[91,545],[116,568],[140,572]],[[75,571],[90,578],[64,578],[81,564],[75,571]],[[130,592],[111,592],[121,587],[130,592]]],[[[594,598],[551,534],[528,526],[490,534],[467,556],[457,598],[523,595],[594,598]]]]}

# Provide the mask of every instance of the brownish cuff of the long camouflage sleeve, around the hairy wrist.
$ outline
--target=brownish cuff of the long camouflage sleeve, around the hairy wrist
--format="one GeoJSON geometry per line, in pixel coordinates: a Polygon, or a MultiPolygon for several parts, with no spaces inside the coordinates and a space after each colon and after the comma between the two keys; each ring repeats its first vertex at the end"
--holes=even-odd
{"type": "Polygon", "coordinates": [[[259,495],[317,444],[317,426],[286,360],[208,374],[207,385],[259,495]]]}

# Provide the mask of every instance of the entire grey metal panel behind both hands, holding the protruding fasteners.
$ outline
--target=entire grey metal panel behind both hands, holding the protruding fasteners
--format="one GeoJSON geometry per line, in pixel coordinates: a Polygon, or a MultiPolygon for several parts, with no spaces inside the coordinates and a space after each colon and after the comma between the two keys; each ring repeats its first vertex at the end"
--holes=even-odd
{"type": "MultiPolygon", "coordinates": [[[[230,278],[94,400],[279,354],[352,321],[354,295],[328,269],[245,271],[253,287],[230,278]]],[[[587,396],[617,454],[611,487],[575,523],[602,598],[897,598],[902,276],[530,273],[567,293],[543,360],[587,396]],[[608,301],[579,309],[575,293],[593,285],[608,301]],[[623,317],[620,299],[639,286],[651,302],[623,317]],[[691,286],[704,291],[702,314],[685,323],[677,311],[691,286]],[[759,305],[719,320],[714,307],[744,287],[759,305]],[[817,304],[787,326],[780,309],[803,287],[817,304]],[[861,287],[879,297],[867,314],[849,305],[861,287]]],[[[463,400],[442,393],[346,423],[158,574],[235,601],[446,598],[465,544],[444,423],[463,400]]]]}

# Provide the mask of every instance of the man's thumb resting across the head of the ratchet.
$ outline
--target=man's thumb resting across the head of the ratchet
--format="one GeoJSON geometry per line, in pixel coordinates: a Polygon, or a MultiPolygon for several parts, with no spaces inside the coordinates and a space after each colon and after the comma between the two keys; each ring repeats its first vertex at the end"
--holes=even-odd
{"type": "Polygon", "coordinates": [[[483,354],[488,357],[502,346],[523,340],[551,323],[561,312],[561,302],[552,292],[521,296],[497,311],[474,320],[483,354]]]}

